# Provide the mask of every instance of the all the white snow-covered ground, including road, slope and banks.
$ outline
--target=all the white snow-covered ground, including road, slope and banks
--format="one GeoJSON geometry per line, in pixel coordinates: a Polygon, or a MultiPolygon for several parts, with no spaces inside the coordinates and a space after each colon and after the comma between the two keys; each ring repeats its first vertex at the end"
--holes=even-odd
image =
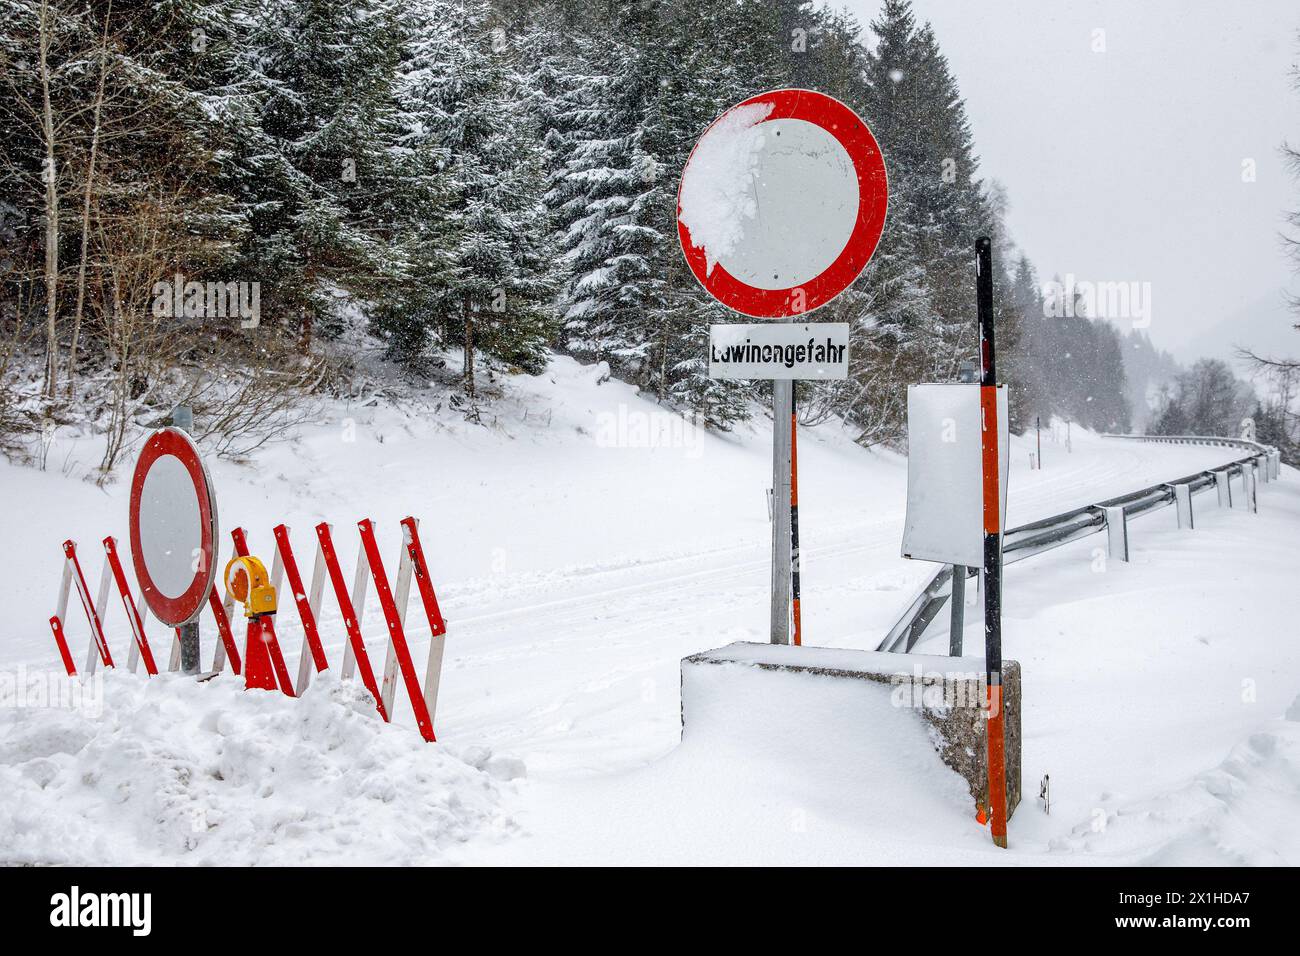
{"type": "MultiPolygon", "coordinates": [[[[322,519],[348,579],[356,519],[376,520],[394,561],[398,519],[421,519],[448,619],[434,747],[404,705],[385,727],[334,682],[290,701],[233,679],[112,674],[96,706],[34,705],[14,684],[58,670],[46,624],[58,542],[81,542],[94,587],[98,541],[127,540],[126,481],[81,480],[95,447],[70,437],[46,473],[0,466],[0,860],[1300,862],[1286,835],[1300,809],[1295,472],[1261,485],[1257,515],[1202,494],[1193,532],[1171,510],[1136,519],[1130,564],[1108,564],[1092,537],[1009,567],[1026,801],[1004,853],[957,778],[901,743],[910,714],[844,688],[697,688],[702,730],[681,744],[679,659],[766,635],[770,423],[698,432],[599,378],[567,359],[508,378],[488,427],[338,406],[251,464],[209,463],[222,533],[239,524],[269,554],[286,522],[304,571],[322,519]],[[1050,816],[1034,801],[1044,774],[1050,816]]],[[[1031,450],[1014,441],[1011,524],[1238,454],[1078,429],[1069,454],[1044,436],[1043,471],[1031,450]]],[[[806,643],[875,648],[933,571],[898,557],[905,481],[897,455],[832,427],[801,433],[806,643]]],[[[339,661],[328,594],[325,609],[339,661]]],[[[110,641],[125,650],[120,611],[110,641]]],[[[290,670],[294,618],[278,622],[290,670]]],[[[363,628],[382,657],[374,601],[363,628]]],[[[70,632],[81,661],[84,623],[70,632]]],[[[927,645],[944,653],[946,635],[927,645]]]]}

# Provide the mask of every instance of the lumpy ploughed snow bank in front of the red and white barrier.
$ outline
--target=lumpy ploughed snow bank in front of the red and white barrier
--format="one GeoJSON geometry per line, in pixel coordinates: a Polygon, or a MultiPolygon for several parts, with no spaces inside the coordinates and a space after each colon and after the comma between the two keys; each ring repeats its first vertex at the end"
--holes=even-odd
{"type": "Polygon", "coordinates": [[[88,687],[95,706],[0,700],[0,864],[428,864],[514,830],[519,761],[385,724],[356,682],[88,687]]]}

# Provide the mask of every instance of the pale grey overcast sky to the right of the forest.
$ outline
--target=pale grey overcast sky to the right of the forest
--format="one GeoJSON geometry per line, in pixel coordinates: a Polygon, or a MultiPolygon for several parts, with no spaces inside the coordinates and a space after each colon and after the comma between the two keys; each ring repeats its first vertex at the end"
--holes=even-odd
{"type": "MultiPolygon", "coordinates": [[[[879,0],[848,0],[863,27],[879,0]]],[[[985,177],[1040,277],[1150,282],[1180,359],[1300,354],[1278,239],[1300,183],[1296,0],[915,0],[966,98],[985,177]],[[1102,30],[1105,52],[1093,52],[1102,30]],[[1243,161],[1254,182],[1243,182],[1243,161]]],[[[870,31],[864,30],[870,39],[870,31]]],[[[888,163],[888,156],[885,157],[888,163]]]]}

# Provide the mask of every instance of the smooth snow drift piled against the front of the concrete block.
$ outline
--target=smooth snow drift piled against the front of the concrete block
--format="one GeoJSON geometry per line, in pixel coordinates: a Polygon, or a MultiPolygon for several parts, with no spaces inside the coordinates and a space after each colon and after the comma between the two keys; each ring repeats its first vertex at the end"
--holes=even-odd
{"type": "Polygon", "coordinates": [[[571,782],[563,801],[530,783],[528,838],[488,862],[950,864],[987,852],[965,782],[887,684],[688,666],[682,710],[681,744],[663,760],[571,782]]]}

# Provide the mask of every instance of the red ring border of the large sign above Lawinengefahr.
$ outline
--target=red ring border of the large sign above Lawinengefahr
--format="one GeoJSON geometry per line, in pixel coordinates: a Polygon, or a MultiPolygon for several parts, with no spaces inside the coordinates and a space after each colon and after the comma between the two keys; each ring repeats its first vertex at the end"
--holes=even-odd
{"type": "MultiPolygon", "coordinates": [[[[880,243],[880,234],[885,228],[885,215],[889,208],[889,178],[885,173],[880,146],[871,135],[871,130],[867,129],[867,124],[840,100],[815,90],[770,90],[750,96],[714,120],[708,125],[708,130],[732,111],[754,103],[772,104],[772,112],[762,122],[803,120],[815,124],[835,137],[849,153],[858,173],[858,219],[849,234],[849,241],[838,258],[822,274],[789,289],[757,289],[746,285],[727,272],[722,263],[714,263],[714,271],[710,274],[705,251],[692,243],[690,230],[681,221],[680,182],[677,183],[677,238],[681,242],[686,264],[699,280],[699,285],[720,303],[755,319],[786,319],[820,308],[853,285],[862,274],[875,254],[876,246],[880,243]],[[803,290],[803,308],[801,310],[794,308],[794,291],[797,289],[803,290]]],[[[703,135],[699,137],[701,140],[708,135],[708,130],[705,130],[703,135]]],[[[696,148],[686,159],[686,165],[682,166],[682,178],[685,178],[690,160],[698,148],[699,143],[697,142],[696,148]]]]}

